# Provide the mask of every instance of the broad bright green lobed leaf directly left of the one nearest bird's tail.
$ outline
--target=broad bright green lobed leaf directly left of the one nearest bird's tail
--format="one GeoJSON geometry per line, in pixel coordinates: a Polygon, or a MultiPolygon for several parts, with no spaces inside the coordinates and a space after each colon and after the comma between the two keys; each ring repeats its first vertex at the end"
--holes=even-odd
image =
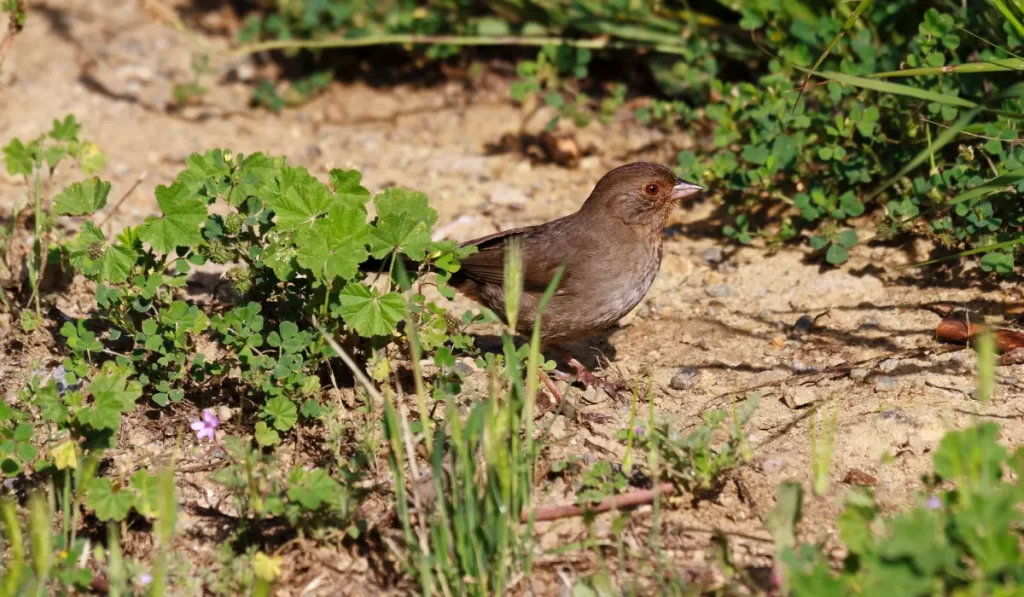
{"type": "Polygon", "coordinates": [[[367,259],[366,216],[356,209],[331,210],[296,239],[300,265],[319,280],[351,280],[367,259]]]}

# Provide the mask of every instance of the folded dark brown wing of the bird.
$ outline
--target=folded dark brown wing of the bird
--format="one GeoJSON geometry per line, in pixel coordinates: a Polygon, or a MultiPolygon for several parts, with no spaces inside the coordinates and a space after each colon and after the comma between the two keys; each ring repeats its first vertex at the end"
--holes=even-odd
{"type": "MultiPolygon", "coordinates": [[[[522,247],[523,290],[544,292],[558,266],[567,262],[572,252],[567,244],[559,245],[557,238],[552,238],[556,237],[552,231],[549,223],[504,230],[464,243],[464,247],[475,246],[477,251],[460,262],[459,273],[477,283],[504,284],[506,243],[518,238],[522,247]]],[[[568,271],[563,272],[561,288],[565,287],[568,275],[568,271]]]]}

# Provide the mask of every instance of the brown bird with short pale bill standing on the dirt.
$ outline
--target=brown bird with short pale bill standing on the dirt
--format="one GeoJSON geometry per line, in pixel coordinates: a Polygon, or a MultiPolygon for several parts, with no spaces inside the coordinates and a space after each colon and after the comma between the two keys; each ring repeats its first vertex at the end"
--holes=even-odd
{"type": "Polygon", "coordinates": [[[601,177],[575,213],[463,243],[477,252],[461,261],[450,284],[505,318],[505,252],[508,242],[517,239],[523,293],[516,331],[529,336],[538,303],[564,265],[558,289],[542,313],[542,343],[559,351],[577,371],[578,381],[607,388],[609,384],[559,345],[610,327],[643,299],[662,266],[662,229],[669,214],[680,200],[700,190],[665,166],[620,166],[601,177]]]}

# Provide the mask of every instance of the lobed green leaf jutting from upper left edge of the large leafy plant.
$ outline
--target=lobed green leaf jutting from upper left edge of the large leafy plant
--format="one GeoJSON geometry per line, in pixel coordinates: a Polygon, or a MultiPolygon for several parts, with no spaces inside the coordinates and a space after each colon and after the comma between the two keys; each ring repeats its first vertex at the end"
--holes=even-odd
{"type": "Polygon", "coordinates": [[[146,218],[139,238],[160,253],[203,244],[200,229],[207,218],[206,203],[181,182],[157,187],[157,203],[164,215],[146,218]]]}

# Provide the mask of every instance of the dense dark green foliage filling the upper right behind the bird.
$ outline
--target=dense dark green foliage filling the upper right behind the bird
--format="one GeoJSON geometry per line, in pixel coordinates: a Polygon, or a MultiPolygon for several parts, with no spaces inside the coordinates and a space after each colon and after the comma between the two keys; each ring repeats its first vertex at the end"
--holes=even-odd
{"type": "Polygon", "coordinates": [[[511,87],[526,118],[547,105],[549,129],[608,123],[629,102],[640,123],[689,132],[677,171],[724,202],[735,242],[803,239],[838,265],[866,239],[911,233],[1009,273],[1024,238],[1022,20],[997,0],[286,2],[252,16],[243,41],[332,36],[319,47],[427,58],[541,45],[511,87]],[[641,63],[657,96],[635,100],[637,77],[599,85],[598,58],[641,63]]]}

